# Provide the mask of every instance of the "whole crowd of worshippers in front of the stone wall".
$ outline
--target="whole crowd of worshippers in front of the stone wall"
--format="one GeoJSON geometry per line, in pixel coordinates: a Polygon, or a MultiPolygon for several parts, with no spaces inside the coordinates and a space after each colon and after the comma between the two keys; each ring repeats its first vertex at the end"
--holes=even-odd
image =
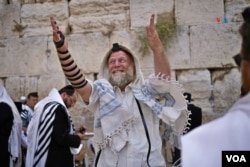
{"type": "Polygon", "coordinates": [[[204,125],[202,110],[191,103],[191,94],[183,94],[180,84],[170,78],[154,14],[145,29],[154,73],[144,79],[138,57],[114,43],[95,81],[85,78],[51,17],[58,60],[70,84],[52,88],[41,100],[32,92],[25,104],[15,104],[0,84],[1,166],[74,167],[86,131],[74,127],[68,110],[77,101],[94,114],[95,167],[166,167],[160,120],[175,147],[173,166],[219,167],[222,150],[250,150],[250,8],[242,16],[239,65],[244,93],[227,114],[204,125]]]}

